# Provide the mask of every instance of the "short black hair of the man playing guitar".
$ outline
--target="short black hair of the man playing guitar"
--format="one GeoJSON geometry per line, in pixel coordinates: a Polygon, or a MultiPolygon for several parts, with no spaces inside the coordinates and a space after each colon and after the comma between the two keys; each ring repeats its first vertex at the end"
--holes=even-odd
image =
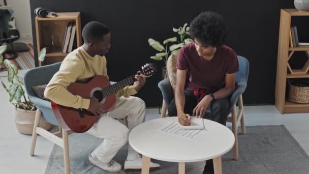
{"type": "Polygon", "coordinates": [[[102,41],[103,36],[106,34],[109,34],[108,27],[97,21],[87,23],[82,31],[84,42],[102,41]]]}

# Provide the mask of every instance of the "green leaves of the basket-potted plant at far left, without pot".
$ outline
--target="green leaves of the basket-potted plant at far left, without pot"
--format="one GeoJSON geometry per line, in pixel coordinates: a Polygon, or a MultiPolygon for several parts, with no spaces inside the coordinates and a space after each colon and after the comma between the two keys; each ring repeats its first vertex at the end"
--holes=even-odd
{"type": "MultiPolygon", "coordinates": [[[[24,110],[36,110],[36,106],[26,98],[25,91],[23,89],[24,83],[22,77],[18,76],[17,67],[10,61],[4,60],[2,54],[6,51],[7,45],[0,46],[0,64],[4,63],[8,70],[8,81],[10,86],[7,87],[1,80],[3,88],[10,95],[10,102],[16,107],[24,110]],[[14,102],[15,101],[15,102],[14,102]]],[[[44,60],[46,49],[42,49],[39,60],[44,60]]]]}

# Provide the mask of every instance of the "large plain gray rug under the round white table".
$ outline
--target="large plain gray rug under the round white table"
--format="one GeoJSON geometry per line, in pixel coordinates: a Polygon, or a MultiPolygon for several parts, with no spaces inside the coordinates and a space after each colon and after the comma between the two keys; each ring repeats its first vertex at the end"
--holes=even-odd
{"type": "MultiPolygon", "coordinates": [[[[232,159],[232,150],[223,156],[223,173],[309,173],[308,155],[284,126],[253,126],[246,130],[247,134],[238,136],[239,160],[232,159]]],[[[71,173],[110,173],[88,161],[88,154],[101,142],[87,133],[69,136],[71,173]]],[[[127,147],[123,147],[114,159],[123,164],[126,157],[127,147]]],[[[150,173],[178,173],[177,163],[152,161],[162,167],[150,173]]],[[[186,163],[186,173],[202,173],[204,164],[203,161],[186,163]]],[[[64,173],[63,150],[57,145],[53,147],[45,173],[64,173]]]]}

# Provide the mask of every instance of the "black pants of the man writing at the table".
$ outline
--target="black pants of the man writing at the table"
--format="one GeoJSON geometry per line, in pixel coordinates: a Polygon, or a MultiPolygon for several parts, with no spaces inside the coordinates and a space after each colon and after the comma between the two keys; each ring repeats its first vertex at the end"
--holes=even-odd
{"type": "MultiPolygon", "coordinates": [[[[185,103],[184,103],[184,113],[189,113],[192,115],[193,109],[197,105],[197,98],[194,96],[193,91],[184,90],[185,103]]],[[[230,105],[229,98],[222,98],[218,100],[211,101],[208,109],[211,111],[210,114],[205,113],[204,119],[212,120],[226,126],[226,120],[228,117],[228,108],[230,105]]],[[[175,98],[172,100],[168,106],[168,115],[170,117],[177,116],[177,109],[175,104],[175,98]]],[[[207,160],[205,165],[205,170],[213,172],[213,161],[207,160]]]]}

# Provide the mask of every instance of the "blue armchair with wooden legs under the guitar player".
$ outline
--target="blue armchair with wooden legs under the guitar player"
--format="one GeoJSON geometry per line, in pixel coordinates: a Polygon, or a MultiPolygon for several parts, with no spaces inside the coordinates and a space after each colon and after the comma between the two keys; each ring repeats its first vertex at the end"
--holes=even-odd
{"type": "Polygon", "coordinates": [[[66,174],[70,173],[70,158],[69,158],[69,142],[68,142],[68,132],[59,127],[59,131],[55,133],[50,133],[47,130],[38,127],[40,119],[51,123],[55,126],[59,126],[57,119],[52,111],[50,102],[38,98],[32,89],[32,86],[47,84],[52,76],[59,70],[61,63],[55,63],[52,65],[42,66],[29,70],[24,75],[24,85],[25,91],[36,107],[37,113],[32,134],[32,145],[30,148],[30,155],[34,155],[37,136],[40,134],[44,138],[57,144],[59,147],[64,148],[64,158],[65,158],[65,170],[66,174]]]}

